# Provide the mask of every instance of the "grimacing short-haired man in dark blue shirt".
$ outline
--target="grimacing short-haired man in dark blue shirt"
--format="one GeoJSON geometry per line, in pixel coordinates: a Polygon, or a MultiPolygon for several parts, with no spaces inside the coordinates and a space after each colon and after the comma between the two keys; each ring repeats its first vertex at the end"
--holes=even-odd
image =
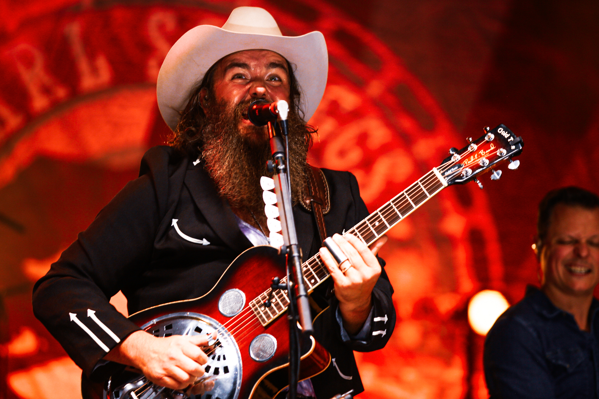
{"type": "Polygon", "coordinates": [[[599,197],[577,187],[539,205],[541,288],[506,310],[485,342],[492,399],[598,398],[599,197]]]}

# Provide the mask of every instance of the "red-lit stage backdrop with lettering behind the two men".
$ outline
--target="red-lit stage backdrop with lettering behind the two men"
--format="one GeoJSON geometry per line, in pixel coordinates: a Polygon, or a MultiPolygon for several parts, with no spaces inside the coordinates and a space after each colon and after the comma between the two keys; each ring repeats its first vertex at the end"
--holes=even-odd
{"type": "MultiPolygon", "coordinates": [[[[530,243],[544,192],[597,191],[587,166],[599,159],[597,33],[580,25],[598,7],[547,2],[539,16],[539,5],[507,0],[350,3],[0,1],[8,397],[79,397],[80,370],[32,315],[32,284],[137,176],[144,151],[164,143],[156,76],[171,45],[193,26],[221,26],[239,5],[267,8],[284,35],[325,35],[329,78],[310,120],[319,127],[310,161],[354,173],[371,211],[483,126],[506,123],[524,138],[519,170],[485,177],[485,191],[449,187],[389,232],[382,256],[398,322],[385,349],[356,353],[362,399],[486,397],[467,301],[494,288],[513,303],[535,282],[530,243]]],[[[122,296],[112,301],[125,312],[122,296]]]]}

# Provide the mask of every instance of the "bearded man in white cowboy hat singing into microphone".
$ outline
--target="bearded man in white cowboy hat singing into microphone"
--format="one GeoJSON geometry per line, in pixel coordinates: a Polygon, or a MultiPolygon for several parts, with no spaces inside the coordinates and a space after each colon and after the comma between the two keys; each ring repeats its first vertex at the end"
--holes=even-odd
{"type": "MultiPolygon", "coordinates": [[[[261,8],[236,8],[222,28],[196,26],[173,45],[157,89],[161,114],[174,132],[170,146],[145,154],[140,177],[102,209],[34,287],[35,315],[85,378],[105,379],[116,363],[171,389],[185,389],[204,376],[207,336],[155,337],[108,300],[121,290],[131,314],[201,297],[237,255],[270,243],[259,182],[272,175],[266,166],[268,133],[247,120],[247,109],[256,99],[286,100],[299,244],[304,260],[320,251],[332,277],[312,294],[313,303],[327,305],[314,321],[314,337],[332,361],[298,392],[326,399],[363,391],[352,351],[385,346],[395,324],[393,290],[385,263],[376,257],[386,237],[368,248],[351,234],[340,235],[368,215],[353,175],[322,170],[330,204],[323,218],[349,258],[343,267],[320,248],[314,216],[302,203],[314,132],[305,120],[322,98],[327,71],[322,33],[282,36],[261,8]],[[90,311],[106,328],[90,322],[90,311]]],[[[256,284],[266,290],[270,278],[256,284]]],[[[205,382],[195,393],[212,386],[205,382]]]]}

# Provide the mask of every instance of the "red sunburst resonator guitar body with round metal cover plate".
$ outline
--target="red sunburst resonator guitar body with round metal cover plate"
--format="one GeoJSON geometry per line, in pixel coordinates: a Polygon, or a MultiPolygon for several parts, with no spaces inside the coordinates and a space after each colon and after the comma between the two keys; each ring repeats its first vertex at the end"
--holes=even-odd
{"type": "MultiPolygon", "coordinates": [[[[288,386],[289,321],[283,313],[263,326],[248,303],[269,288],[271,278],[285,276],[284,265],[275,248],[255,246],[240,254],[204,296],[150,307],[129,319],[156,337],[217,331],[205,367],[206,374],[215,377],[214,389],[195,399],[274,398],[288,386]]],[[[300,380],[328,367],[331,356],[316,340],[310,338],[301,349],[300,380]]],[[[188,397],[153,385],[138,373],[126,368],[89,393],[105,399],[188,397]]]]}

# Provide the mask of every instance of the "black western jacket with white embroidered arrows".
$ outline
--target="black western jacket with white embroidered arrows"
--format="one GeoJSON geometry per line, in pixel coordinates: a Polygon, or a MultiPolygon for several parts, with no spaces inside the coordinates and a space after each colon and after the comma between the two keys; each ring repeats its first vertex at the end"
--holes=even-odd
{"type": "MultiPolygon", "coordinates": [[[[207,293],[231,261],[252,246],[202,163],[193,161],[171,147],[147,151],[140,177],[125,185],[35,284],[35,316],[92,380],[107,377],[111,367],[96,365],[106,349],[117,343],[90,321],[87,309],[94,310],[95,316],[123,340],[140,328],[108,303],[119,290],[128,300],[129,314],[194,299],[207,293]],[[177,220],[181,233],[209,243],[184,239],[173,220],[177,220]],[[86,325],[104,348],[75,319],[86,325]]],[[[323,172],[331,196],[325,224],[332,235],[349,230],[367,217],[368,211],[355,176],[328,169],[323,172]]],[[[321,246],[317,227],[313,216],[301,206],[294,206],[294,217],[305,260],[321,246]]],[[[268,284],[270,281],[264,282],[265,289],[268,284]]],[[[386,321],[371,320],[371,330],[385,330],[385,334],[369,333],[365,341],[343,342],[335,319],[338,302],[330,293],[331,287],[328,279],[312,294],[314,303],[329,304],[314,322],[314,337],[335,358],[323,373],[312,378],[319,398],[352,388],[354,394],[363,391],[352,351],[383,348],[395,325],[393,289],[384,269],[373,291],[371,317],[386,321]]]]}

